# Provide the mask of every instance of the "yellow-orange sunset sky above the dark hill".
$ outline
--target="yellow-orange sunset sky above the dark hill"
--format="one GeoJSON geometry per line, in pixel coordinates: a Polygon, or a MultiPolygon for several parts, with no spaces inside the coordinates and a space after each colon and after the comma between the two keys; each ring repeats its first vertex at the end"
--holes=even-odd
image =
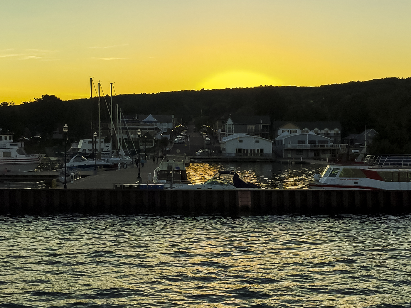
{"type": "Polygon", "coordinates": [[[1,0],[0,102],[90,97],[90,78],[102,94],[406,78],[409,16],[409,0],[1,0]]]}

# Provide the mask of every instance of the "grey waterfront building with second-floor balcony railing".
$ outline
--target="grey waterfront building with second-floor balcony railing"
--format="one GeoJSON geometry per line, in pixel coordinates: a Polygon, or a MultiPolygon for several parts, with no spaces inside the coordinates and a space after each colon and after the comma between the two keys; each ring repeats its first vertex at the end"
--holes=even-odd
{"type": "Polygon", "coordinates": [[[284,131],[275,138],[275,152],[286,159],[321,159],[336,157],[345,152],[346,145],[334,144],[332,139],[309,131],[307,133],[289,133],[284,131]]]}

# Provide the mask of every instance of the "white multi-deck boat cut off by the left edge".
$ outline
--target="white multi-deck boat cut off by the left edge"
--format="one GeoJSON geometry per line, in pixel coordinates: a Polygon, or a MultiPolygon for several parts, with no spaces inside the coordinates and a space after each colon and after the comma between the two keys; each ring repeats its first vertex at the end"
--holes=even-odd
{"type": "Polygon", "coordinates": [[[13,142],[12,133],[1,133],[0,129],[0,172],[26,172],[37,168],[46,154],[28,155],[24,142],[13,142]]]}

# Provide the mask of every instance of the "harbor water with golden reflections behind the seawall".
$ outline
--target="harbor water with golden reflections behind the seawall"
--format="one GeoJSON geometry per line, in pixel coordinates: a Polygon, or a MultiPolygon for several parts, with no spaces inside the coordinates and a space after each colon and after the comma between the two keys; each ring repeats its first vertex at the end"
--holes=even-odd
{"type": "Polygon", "coordinates": [[[192,184],[201,184],[213,177],[218,170],[230,167],[243,179],[258,184],[261,188],[284,189],[307,188],[302,181],[312,179],[315,173],[321,173],[326,165],[281,164],[261,162],[232,162],[232,163],[191,163],[187,167],[187,177],[192,184]]]}

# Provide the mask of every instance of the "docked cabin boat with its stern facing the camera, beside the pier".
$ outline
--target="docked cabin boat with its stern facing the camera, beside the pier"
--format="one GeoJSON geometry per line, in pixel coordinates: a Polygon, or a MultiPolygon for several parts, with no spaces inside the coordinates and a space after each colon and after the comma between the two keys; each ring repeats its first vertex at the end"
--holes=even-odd
{"type": "Polygon", "coordinates": [[[187,158],[179,155],[166,155],[154,170],[153,182],[159,184],[189,184],[185,169],[187,158]]]}

